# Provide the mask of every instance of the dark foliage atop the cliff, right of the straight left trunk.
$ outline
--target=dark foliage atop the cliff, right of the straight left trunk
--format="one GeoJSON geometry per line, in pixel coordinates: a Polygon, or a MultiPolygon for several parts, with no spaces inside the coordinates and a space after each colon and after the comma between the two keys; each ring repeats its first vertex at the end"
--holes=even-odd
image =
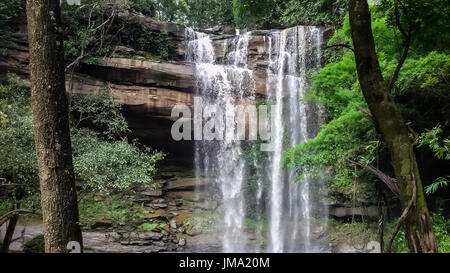
{"type": "Polygon", "coordinates": [[[136,9],[154,15],[157,6],[151,0],[85,1],[81,6],[63,4],[66,61],[83,56],[84,62],[96,63],[98,58],[112,56],[118,45],[144,50],[157,59],[174,58],[177,49],[167,32],[152,31],[145,24],[132,20],[136,9]]]}

